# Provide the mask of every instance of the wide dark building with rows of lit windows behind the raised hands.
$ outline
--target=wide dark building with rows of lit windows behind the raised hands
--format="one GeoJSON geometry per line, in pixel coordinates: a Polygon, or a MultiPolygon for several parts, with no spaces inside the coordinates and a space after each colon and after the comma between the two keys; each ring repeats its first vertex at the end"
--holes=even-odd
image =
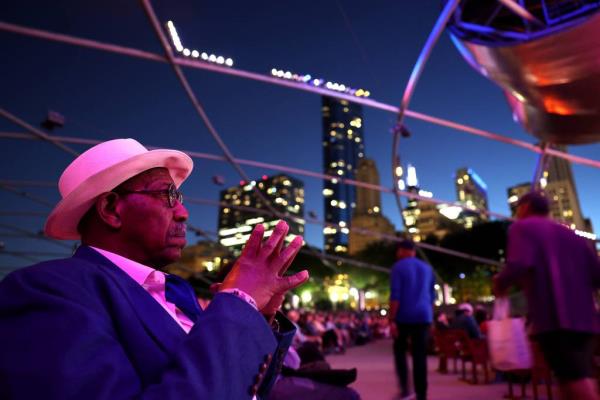
{"type": "Polygon", "coordinates": [[[257,181],[242,181],[239,186],[221,191],[219,209],[219,243],[235,255],[241,252],[256,224],[265,225],[265,237],[268,237],[279,221],[256,195],[255,187],[275,210],[294,217],[288,220],[290,230],[286,240],[290,241],[295,235],[304,236],[302,181],[283,174],[271,177],[265,175],[257,181]]]}

